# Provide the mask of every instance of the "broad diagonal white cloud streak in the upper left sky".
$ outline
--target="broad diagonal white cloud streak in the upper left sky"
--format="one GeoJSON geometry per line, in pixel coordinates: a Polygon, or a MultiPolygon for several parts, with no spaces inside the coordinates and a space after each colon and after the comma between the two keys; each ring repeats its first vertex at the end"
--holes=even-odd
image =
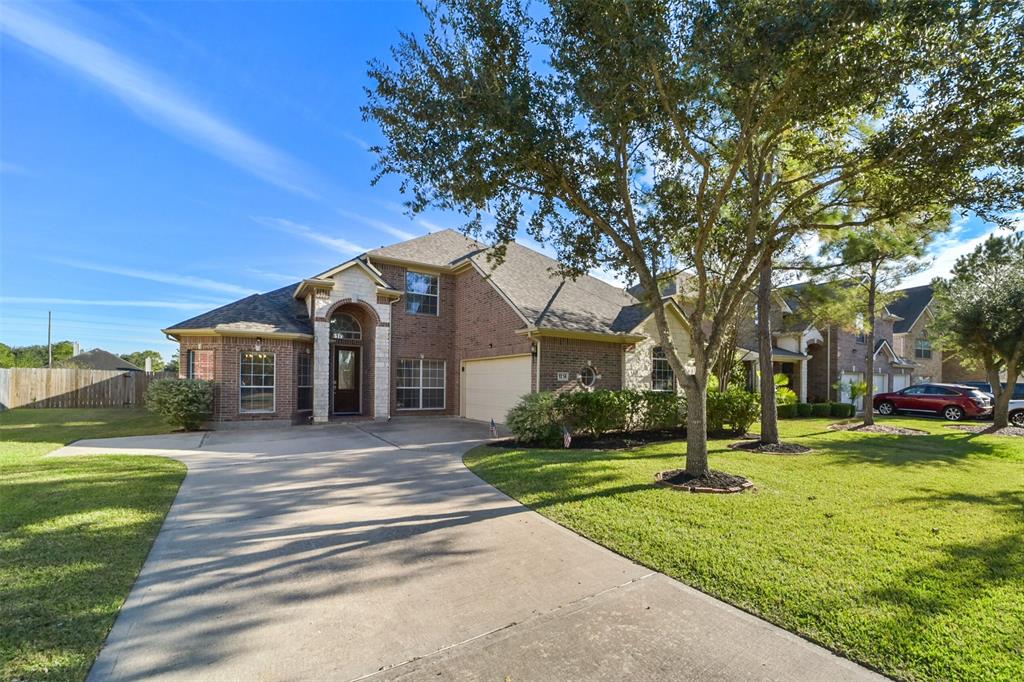
{"type": "Polygon", "coordinates": [[[297,162],[204,111],[160,75],[105,45],[19,4],[4,4],[0,32],[92,79],[143,117],[244,171],[304,197],[316,197],[297,162]]]}

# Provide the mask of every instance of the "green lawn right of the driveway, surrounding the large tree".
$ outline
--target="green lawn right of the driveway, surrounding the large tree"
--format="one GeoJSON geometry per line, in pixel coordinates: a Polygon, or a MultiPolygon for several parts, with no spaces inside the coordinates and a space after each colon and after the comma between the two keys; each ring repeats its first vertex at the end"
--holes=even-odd
{"type": "Polygon", "coordinates": [[[1024,679],[1024,439],[939,421],[899,437],[781,422],[815,449],[713,442],[757,489],[653,487],[685,443],[629,452],[477,447],[470,469],[549,518],[886,674],[1024,679]]]}

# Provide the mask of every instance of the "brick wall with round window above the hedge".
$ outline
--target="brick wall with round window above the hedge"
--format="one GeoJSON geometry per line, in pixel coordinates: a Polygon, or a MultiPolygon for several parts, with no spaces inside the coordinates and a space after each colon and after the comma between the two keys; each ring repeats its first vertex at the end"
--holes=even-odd
{"type": "Polygon", "coordinates": [[[541,339],[541,390],[567,391],[579,388],[577,375],[585,365],[599,378],[594,388],[617,390],[623,387],[623,346],[618,343],[544,337],[541,339]],[[558,381],[567,372],[568,381],[558,381]]]}

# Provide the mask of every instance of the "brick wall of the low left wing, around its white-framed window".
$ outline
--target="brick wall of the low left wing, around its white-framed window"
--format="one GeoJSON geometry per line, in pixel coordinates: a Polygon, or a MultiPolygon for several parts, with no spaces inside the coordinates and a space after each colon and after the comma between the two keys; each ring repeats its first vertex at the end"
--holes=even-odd
{"type": "MultiPolygon", "coordinates": [[[[296,353],[311,351],[312,344],[291,339],[263,339],[262,352],[274,354],[274,411],[244,414],[239,411],[240,354],[256,350],[256,339],[246,337],[182,337],[179,357],[189,350],[213,350],[214,421],[294,419],[296,408],[296,353]]],[[[183,366],[181,373],[183,374],[183,366]]]]}

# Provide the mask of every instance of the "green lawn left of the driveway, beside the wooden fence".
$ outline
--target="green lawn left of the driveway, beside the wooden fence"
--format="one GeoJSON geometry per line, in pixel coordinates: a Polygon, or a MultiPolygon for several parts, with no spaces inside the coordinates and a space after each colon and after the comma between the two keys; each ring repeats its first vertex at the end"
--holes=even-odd
{"type": "Polygon", "coordinates": [[[0,679],[85,677],[185,473],[157,457],[42,456],[165,431],[139,410],[0,413],[0,679]]]}

